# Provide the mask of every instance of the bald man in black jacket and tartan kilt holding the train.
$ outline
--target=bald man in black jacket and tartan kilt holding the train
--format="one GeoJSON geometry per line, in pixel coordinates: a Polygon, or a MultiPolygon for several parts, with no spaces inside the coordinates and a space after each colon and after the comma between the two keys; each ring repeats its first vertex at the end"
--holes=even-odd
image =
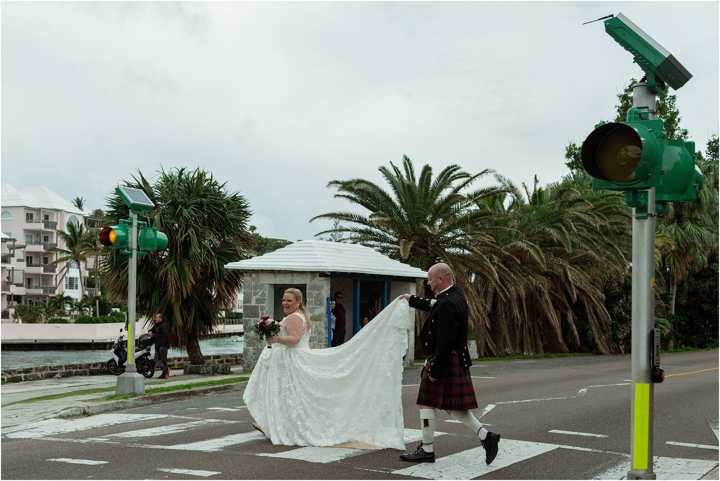
{"type": "Polygon", "coordinates": [[[420,332],[420,343],[427,357],[418,392],[423,442],[415,452],[401,454],[400,459],[435,462],[435,410],[442,409],[477,434],[485,448],[485,462],[490,464],[498,454],[500,435],[483,428],[470,412],[477,408],[477,400],[469,369],[472,361],[467,349],[467,301],[453,283],[447,264],[435,264],[428,269],[428,285],[436,292],[434,300],[409,294],[400,296],[410,302],[410,307],[429,311],[420,332]]]}

